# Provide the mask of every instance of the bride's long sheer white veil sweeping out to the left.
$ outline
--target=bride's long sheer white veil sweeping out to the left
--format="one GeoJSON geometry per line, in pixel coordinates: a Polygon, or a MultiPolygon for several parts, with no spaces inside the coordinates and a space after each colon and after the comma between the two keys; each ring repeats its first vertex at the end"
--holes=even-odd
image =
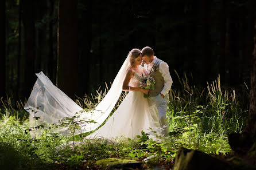
{"type": "MultiPolygon", "coordinates": [[[[75,131],[75,135],[95,130],[106,120],[118,101],[128,67],[129,57],[126,57],[110,90],[98,106],[90,111],[83,110],[83,108],[53,85],[43,72],[37,73],[37,81],[24,106],[24,109],[30,113],[30,127],[38,126],[40,123],[44,125],[59,124],[61,119],[65,117],[72,118],[79,113],[79,121],[76,122],[79,122],[81,126],[78,128],[79,130],[75,131]]],[[[57,131],[63,134],[70,134],[67,126],[59,127],[57,131]]]]}

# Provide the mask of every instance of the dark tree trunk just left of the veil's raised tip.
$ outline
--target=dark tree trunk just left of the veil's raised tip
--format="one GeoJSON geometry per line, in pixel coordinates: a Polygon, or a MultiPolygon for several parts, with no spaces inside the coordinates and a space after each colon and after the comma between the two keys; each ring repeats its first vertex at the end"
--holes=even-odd
{"type": "Polygon", "coordinates": [[[33,88],[36,76],[34,75],[34,46],[35,46],[35,27],[34,27],[34,5],[33,0],[22,1],[22,22],[24,25],[25,37],[25,74],[24,84],[22,85],[23,97],[28,98],[33,88]]]}

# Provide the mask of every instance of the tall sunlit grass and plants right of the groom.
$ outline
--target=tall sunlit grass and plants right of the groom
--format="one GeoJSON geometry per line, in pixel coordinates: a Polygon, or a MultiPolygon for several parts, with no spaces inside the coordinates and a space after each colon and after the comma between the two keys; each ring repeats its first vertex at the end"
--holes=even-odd
{"type": "Polygon", "coordinates": [[[187,76],[177,77],[183,91],[172,89],[169,94],[170,138],[179,147],[200,149],[205,153],[226,155],[231,152],[227,135],[241,133],[247,116],[247,108],[241,108],[235,90],[223,90],[220,76],[211,84],[207,82],[207,90],[189,86],[187,76]]]}

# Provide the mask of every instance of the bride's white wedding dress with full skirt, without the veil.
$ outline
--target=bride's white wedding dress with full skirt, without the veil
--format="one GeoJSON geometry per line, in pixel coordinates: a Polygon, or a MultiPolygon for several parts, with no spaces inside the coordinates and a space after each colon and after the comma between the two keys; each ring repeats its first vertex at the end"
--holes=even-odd
{"type": "MultiPolygon", "coordinates": [[[[135,72],[130,86],[139,87],[140,75],[135,72]]],[[[94,137],[130,137],[141,135],[141,131],[151,134],[150,129],[158,131],[160,124],[156,112],[150,113],[147,98],[142,92],[129,92],[113,115],[97,131],[90,135],[94,137]]],[[[88,137],[87,137],[88,138],[88,137]]]]}

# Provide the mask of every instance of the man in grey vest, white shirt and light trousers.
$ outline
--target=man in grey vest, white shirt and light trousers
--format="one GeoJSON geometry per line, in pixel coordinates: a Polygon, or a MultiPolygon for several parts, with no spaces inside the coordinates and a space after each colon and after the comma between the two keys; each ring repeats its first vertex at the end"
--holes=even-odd
{"type": "Polygon", "coordinates": [[[172,77],[170,77],[169,66],[166,62],[154,56],[154,51],[149,46],[141,50],[141,57],[145,63],[143,67],[147,70],[149,76],[156,81],[154,90],[149,91],[149,107],[150,110],[157,109],[161,133],[167,137],[169,133],[169,125],[166,118],[167,94],[173,82],[172,77]]]}

